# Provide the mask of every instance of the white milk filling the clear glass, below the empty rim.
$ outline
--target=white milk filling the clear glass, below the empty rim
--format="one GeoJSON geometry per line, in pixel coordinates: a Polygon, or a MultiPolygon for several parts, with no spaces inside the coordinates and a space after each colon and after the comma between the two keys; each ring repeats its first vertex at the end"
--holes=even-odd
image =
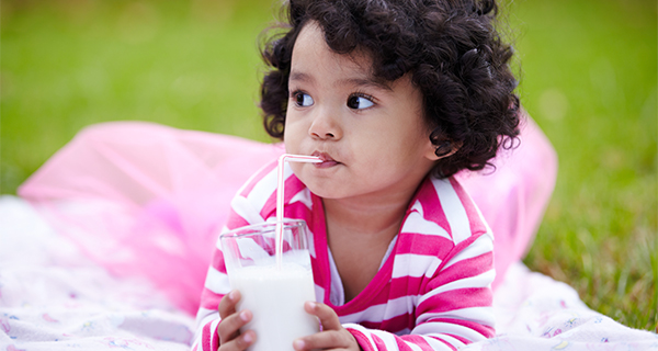
{"type": "MultiPolygon", "coordinates": [[[[308,259],[307,259],[308,260],[308,259]]],[[[251,310],[253,318],[241,331],[256,331],[250,351],[292,351],[293,341],[318,332],[316,317],[304,310],[304,303],[315,301],[313,271],[297,263],[251,265],[229,274],[232,288],[242,298],[238,309],[251,310]]]]}

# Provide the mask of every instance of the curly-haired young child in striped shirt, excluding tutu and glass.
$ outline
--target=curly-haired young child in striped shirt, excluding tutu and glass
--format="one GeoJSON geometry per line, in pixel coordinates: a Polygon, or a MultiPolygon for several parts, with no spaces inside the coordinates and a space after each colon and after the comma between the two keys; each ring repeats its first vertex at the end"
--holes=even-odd
{"type": "MultiPolygon", "coordinates": [[[[495,1],[287,4],[290,29],[263,50],[270,135],[321,163],[286,166],[285,217],[314,235],[322,330],[295,350],[454,350],[495,335],[492,233],[453,177],[515,145],[512,55],[495,1]]],[[[275,217],[276,163],[231,203],[226,229],[275,217]]],[[[245,350],[217,249],[194,350],[245,350]]],[[[291,346],[293,347],[293,346],[291,346]]]]}

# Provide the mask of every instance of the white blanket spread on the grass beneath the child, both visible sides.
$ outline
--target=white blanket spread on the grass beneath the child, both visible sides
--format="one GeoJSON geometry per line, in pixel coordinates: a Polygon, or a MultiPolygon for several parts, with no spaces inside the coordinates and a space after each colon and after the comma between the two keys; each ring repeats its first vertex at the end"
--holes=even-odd
{"type": "MultiPolygon", "coordinates": [[[[462,350],[658,350],[658,336],[589,309],[517,263],[496,291],[498,336],[462,350]]],[[[0,351],[189,350],[194,318],[146,281],[117,280],[32,207],[0,197],[0,351]]]]}

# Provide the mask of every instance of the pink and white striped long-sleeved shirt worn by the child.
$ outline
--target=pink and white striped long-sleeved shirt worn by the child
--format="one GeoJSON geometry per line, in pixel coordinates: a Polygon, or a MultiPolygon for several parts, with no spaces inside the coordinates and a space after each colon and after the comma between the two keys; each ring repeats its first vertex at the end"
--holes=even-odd
{"type": "MultiPolygon", "coordinates": [[[[494,237],[456,180],[427,178],[421,183],[379,271],[345,304],[327,246],[322,202],[288,166],[284,174],[285,217],[305,219],[313,233],[316,298],[336,310],[363,350],[456,350],[495,335],[494,237]]],[[[274,162],[240,189],[226,230],[275,219],[275,203],[274,162]]],[[[217,244],[196,316],[193,350],[218,348],[217,306],[229,291],[217,244]]]]}

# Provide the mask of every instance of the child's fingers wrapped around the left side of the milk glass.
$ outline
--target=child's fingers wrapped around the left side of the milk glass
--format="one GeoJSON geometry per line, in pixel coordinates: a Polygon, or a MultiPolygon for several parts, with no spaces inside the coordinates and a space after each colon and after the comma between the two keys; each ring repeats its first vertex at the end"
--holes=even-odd
{"type": "Polygon", "coordinates": [[[219,302],[218,309],[222,321],[217,327],[217,335],[219,336],[220,351],[245,350],[256,340],[253,330],[247,330],[243,335],[240,335],[239,329],[252,317],[250,310],[236,313],[236,304],[240,301],[240,292],[234,290],[222,297],[219,302]]]}

